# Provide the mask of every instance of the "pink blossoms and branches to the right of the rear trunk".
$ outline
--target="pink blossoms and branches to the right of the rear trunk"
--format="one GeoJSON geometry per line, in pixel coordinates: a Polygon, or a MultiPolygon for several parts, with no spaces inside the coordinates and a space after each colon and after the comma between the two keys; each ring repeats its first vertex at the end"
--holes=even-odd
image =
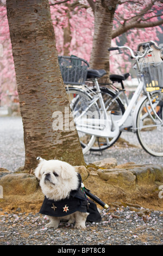
{"type": "MultiPolygon", "coordinates": [[[[125,44],[134,51],[141,42],[153,40],[161,44],[158,35],[163,31],[162,8],[162,1],[120,1],[114,14],[111,44],[125,44]]],[[[111,56],[110,62],[115,63],[117,73],[129,72],[132,65],[126,54],[111,56]]],[[[113,69],[110,66],[111,72],[115,65],[113,69]]]]}

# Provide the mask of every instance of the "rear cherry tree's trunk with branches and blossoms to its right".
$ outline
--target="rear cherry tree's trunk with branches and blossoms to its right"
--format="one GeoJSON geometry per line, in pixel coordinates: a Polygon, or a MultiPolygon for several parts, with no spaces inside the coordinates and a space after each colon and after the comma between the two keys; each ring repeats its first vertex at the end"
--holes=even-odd
{"type": "MultiPolygon", "coordinates": [[[[118,41],[120,39],[117,37],[126,33],[127,42],[130,47],[134,46],[134,49],[135,45],[143,41],[144,38],[146,38],[145,41],[153,39],[155,41],[158,39],[156,32],[162,32],[156,26],[160,26],[163,23],[163,5],[162,0],[140,0],[139,2],[136,0],[96,0],[95,2],[92,1],[92,4],[95,13],[95,31],[90,64],[92,68],[101,68],[107,71],[107,82],[110,70],[108,47],[111,45],[111,39],[117,39],[118,41]],[[142,38],[141,35],[143,33],[138,36],[138,28],[146,31],[146,37],[142,38]],[[105,31],[104,34],[103,31],[105,31]]],[[[124,60],[122,59],[121,66],[123,65],[124,60]]],[[[104,79],[103,82],[105,82],[104,79]]]]}

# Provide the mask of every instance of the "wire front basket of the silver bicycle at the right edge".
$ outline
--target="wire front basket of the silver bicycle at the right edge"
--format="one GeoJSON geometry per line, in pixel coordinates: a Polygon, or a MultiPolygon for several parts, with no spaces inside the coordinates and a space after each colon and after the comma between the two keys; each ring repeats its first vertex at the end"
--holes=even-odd
{"type": "Polygon", "coordinates": [[[163,88],[163,62],[143,63],[141,71],[146,88],[163,88]]]}

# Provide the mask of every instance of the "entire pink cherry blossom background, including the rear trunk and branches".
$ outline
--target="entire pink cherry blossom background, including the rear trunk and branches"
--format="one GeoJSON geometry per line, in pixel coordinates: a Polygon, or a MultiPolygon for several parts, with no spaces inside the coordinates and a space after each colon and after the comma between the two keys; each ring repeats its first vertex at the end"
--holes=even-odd
{"type": "MultiPolygon", "coordinates": [[[[162,33],[162,0],[51,0],[49,4],[58,54],[82,57],[92,68],[105,69],[108,74],[109,70],[128,72],[131,66],[123,55],[109,60],[110,45],[125,44],[136,50],[142,41],[159,42],[162,33]]],[[[4,95],[17,92],[5,0],[1,0],[0,15],[0,44],[4,50],[0,82],[4,95]]]]}

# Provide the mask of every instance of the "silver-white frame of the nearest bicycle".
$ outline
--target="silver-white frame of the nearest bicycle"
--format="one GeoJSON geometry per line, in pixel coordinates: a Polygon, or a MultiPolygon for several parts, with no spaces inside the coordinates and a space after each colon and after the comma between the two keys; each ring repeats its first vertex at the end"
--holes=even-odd
{"type": "Polygon", "coordinates": [[[128,119],[131,110],[133,109],[133,106],[135,105],[138,97],[140,96],[140,93],[143,89],[143,82],[139,83],[139,86],[136,88],[135,93],[129,102],[126,111],[124,112],[122,118],[118,121],[112,119],[111,112],[107,112],[105,108],[105,104],[103,101],[103,97],[101,94],[101,90],[99,88],[99,84],[97,79],[95,78],[95,87],[96,87],[96,93],[98,96],[94,97],[91,100],[91,103],[85,111],[83,111],[82,114],[78,118],[75,119],[75,122],[77,124],[76,128],[80,132],[84,132],[90,135],[95,135],[97,137],[108,137],[112,138],[118,134],[118,132],[121,129],[121,126],[125,123],[125,121],[128,119]],[[95,104],[99,100],[101,104],[101,117],[98,119],[89,119],[89,118],[83,118],[84,114],[89,110],[89,108],[95,104]],[[93,120],[93,124],[92,124],[93,120]]]}

